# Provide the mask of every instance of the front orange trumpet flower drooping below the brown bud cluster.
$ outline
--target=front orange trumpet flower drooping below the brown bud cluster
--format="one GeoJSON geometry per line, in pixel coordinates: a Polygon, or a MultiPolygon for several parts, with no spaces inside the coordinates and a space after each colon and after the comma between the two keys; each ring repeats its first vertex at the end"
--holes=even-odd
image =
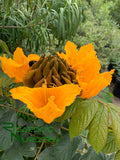
{"type": "Polygon", "coordinates": [[[80,90],[78,85],[65,84],[53,88],[18,87],[10,92],[13,98],[26,103],[36,117],[43,119],[46,123],[51,123],[64,113],[66,106],[74,102],[80,90]]]}

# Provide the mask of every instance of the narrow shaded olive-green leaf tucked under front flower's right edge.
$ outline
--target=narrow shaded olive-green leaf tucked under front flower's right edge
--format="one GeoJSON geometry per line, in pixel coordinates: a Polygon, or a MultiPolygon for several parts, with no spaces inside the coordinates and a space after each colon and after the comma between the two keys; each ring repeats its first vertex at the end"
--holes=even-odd
{"type": "Polygon", "coordinates": [[[76,98],[76,100],[74,101],[74,103],[72,103],[69,107],[66,107],[65,112],[63,113],[63,115],[59,118],[56,119],[57,122],[66,120],[68,118],[70,118],[76,111],[77,107],[79,106],[79,103],[81,102],[80,98],[76,98]]]}

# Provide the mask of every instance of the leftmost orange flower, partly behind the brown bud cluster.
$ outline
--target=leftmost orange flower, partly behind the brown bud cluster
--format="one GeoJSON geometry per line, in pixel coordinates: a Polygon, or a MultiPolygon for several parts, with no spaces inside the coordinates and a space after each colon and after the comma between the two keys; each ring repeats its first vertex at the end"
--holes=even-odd
{"type": "Polygon", "coordinates": [[[26,57],[23,50],[19,47],[16,48],[13,59],[6,58],[5,55],[0,57],[2,70],[9,76],[15,77],[15,82],[23,82],[23,76],[27,73],[30,61],[38,61],[37,54],[30,54],[26,57]]]}

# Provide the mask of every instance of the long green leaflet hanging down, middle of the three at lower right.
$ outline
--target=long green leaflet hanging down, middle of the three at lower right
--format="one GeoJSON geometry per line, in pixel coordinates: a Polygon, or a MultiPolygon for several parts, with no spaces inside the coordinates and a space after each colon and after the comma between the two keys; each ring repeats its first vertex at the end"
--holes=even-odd
{"type": "Polygon", "coordinates": [[[108,109],[103,104],[99,104],[99,109],[96,112],[89,128],[89,138],[92,147],[96,152],[100,151],[107,140],[108,135],[108,109]]]}

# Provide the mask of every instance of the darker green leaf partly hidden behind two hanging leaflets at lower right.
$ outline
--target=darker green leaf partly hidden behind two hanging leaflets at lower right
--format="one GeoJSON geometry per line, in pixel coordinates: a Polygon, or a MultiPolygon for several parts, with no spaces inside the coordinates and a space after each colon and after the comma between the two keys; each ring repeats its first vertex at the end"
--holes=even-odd
{"type": "Polygon", "coordinates": [[[113,153],[117,150],[118,148],[115,142],[115,137],[113,135],[113,132],[109,132],[107,137],[107,142],[104,148],[102,149],[102,152],[108,154],[108,153],[113,153]]]}

